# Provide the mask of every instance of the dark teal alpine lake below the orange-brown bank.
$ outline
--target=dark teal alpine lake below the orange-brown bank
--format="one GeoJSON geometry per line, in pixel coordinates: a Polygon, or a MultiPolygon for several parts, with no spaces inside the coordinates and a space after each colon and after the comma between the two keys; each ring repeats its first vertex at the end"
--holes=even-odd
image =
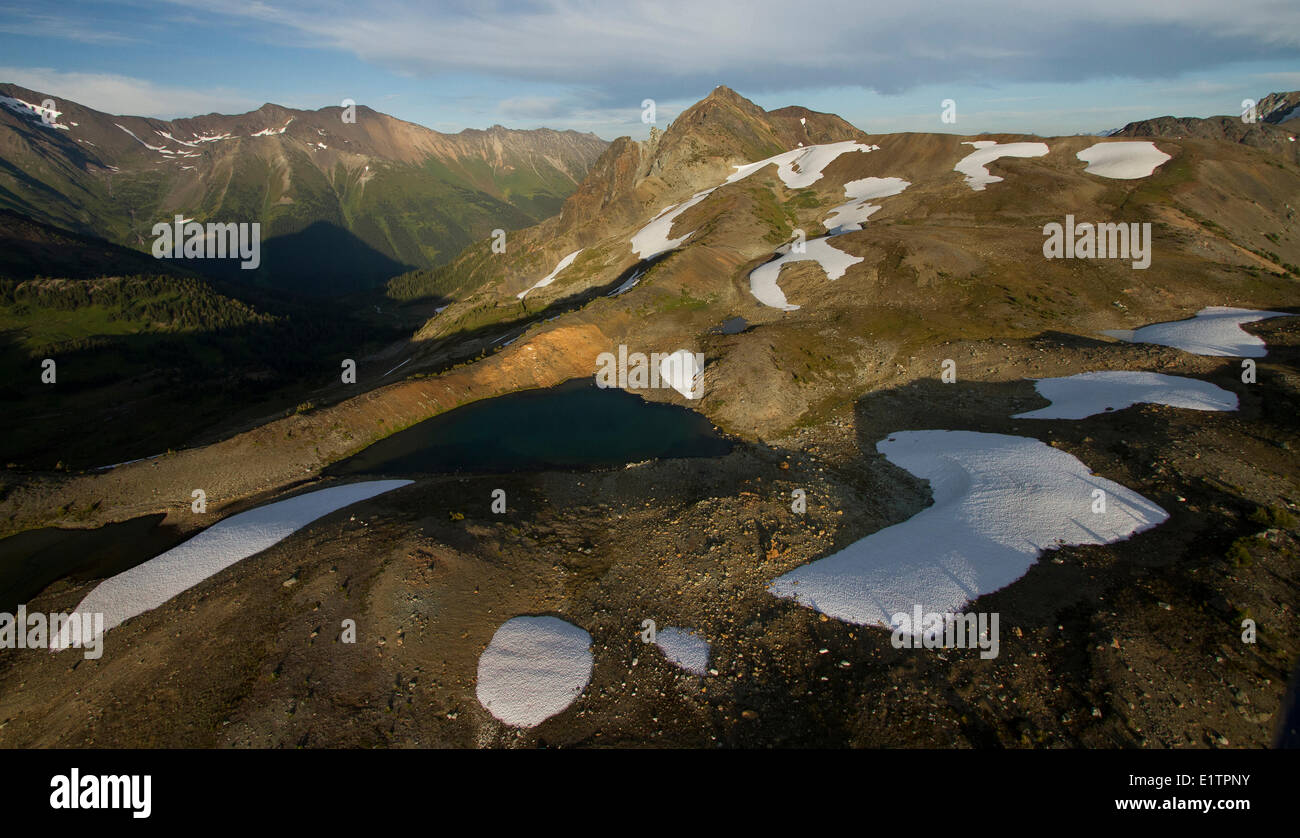
{"type": "Polygon", "coordinates": [[[448,411],[381,439],[326,473],[589,469],[662,457],[718,457],[731,448],[694,411],[577,378],[448,411]]]}

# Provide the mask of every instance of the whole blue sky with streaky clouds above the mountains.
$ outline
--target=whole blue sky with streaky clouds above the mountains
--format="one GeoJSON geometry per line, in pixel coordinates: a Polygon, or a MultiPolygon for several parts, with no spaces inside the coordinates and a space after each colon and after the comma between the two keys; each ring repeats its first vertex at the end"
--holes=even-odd
{"type": "Polygon", "coordinates": [[[160,118],[351,99],[604,139],[727,84],[872,134],[1052,136],[1300,88],[1300,1],[0,0],[0,82],[160,118]]]}

